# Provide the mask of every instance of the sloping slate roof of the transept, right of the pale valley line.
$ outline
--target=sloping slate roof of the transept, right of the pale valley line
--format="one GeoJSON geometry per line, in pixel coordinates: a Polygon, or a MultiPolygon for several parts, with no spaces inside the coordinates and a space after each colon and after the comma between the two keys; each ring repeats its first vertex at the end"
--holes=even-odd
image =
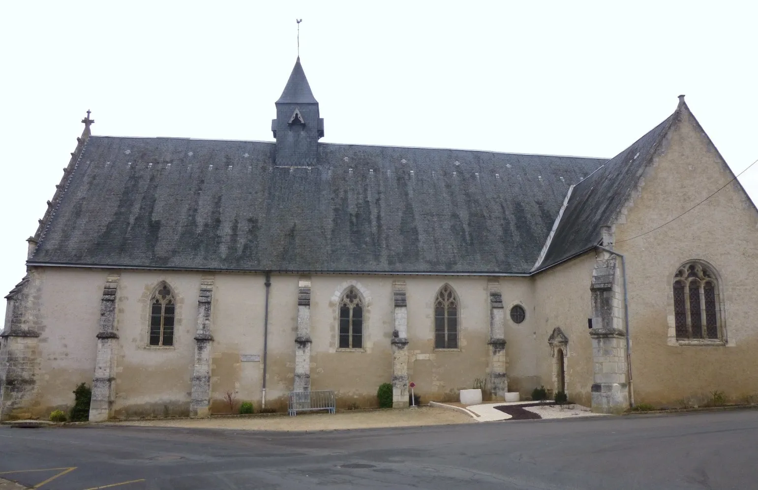
{"type": "Polygon", "coordinates": [[[612,225],[678,111],[679,108],[574,187],[550,247],[536,270],[546,269],[600,243],[600,227],[612,225]]]}

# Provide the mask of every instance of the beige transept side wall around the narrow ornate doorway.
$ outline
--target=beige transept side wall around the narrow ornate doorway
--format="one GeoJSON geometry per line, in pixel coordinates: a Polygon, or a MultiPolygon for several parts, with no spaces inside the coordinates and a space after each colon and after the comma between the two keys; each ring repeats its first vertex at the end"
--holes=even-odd
{"type": "MultiPolygon", "coordinates": [[[[593,379],[592,342],[587,319],[592,316],[590,282],[595,265],[593,252],[564,262],[534,277],[534,341],[540,384],[556,391],[553,351],[547,339],[559,327],[568,337],[564,353],[566,394],[569,400],[589,407],[593,379]]],[[[522,393],[523,394],[523,393],[522,393]]],[[[531,394],[531,391],[530,393],[531,394]]]]}

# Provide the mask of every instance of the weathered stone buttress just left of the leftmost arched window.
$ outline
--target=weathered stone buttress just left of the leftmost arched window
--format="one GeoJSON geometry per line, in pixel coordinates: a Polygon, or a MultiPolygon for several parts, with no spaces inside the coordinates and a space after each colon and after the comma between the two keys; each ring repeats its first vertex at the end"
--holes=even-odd
{"type": "Polygon", "coordinates": [[[116,297],[118,275],[109,275],[100,298],[100,324],[97,334],[95,375],[92,377],[92,400],[89,420],[102,422],[111,418],[114,400],[114,372],[118,334],[116,332],[116,297]]]}

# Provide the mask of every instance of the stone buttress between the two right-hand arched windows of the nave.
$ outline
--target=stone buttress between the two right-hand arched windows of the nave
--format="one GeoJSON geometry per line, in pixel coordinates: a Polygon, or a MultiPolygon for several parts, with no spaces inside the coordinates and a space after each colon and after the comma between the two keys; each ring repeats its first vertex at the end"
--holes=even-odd
{"type": "Polygon", "coordinates": [[[405,408],[408,398],[408,300],[406,281],[393,281],[395,328],[392,332],[392,407],[405,408]]]}

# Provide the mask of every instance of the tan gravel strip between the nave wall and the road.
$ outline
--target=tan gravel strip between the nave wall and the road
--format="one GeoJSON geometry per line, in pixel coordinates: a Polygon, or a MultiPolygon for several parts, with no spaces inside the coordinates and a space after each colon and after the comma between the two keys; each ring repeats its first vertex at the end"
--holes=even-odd
{"type": "Polygon", "coordinates": [[[193,429],[241,429],[270,431],[320,431],[376,429],[380,427],[440,426],[475,422],[453,410],[418,407],[400,410],[346,410],[334,414],[303,413],[294,417],[251,416],[211,419],[154,419],[117,422],[119,426],[185,427],[193,429]]]}

